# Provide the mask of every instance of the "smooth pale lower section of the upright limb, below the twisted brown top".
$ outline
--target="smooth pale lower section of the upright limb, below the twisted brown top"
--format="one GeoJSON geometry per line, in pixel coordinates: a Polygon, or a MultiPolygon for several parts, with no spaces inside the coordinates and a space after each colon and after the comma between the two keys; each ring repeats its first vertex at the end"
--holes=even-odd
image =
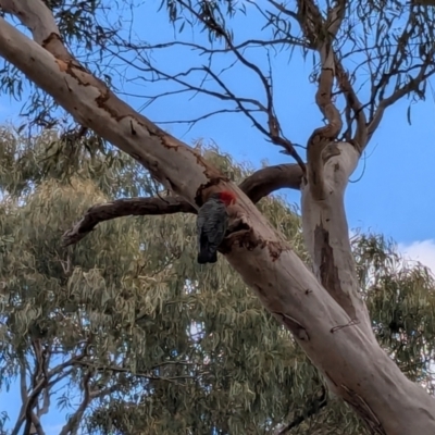
{"type": "MultiPolygon", "coordinates": [[[[359,296],[359,283],[345,211],[346,187],[358,165],[360,154],[350,144],[338,142],[334,147],[338,149],[339,154],[333,153],[323,167],[325,199],[314,200],[309,185],[302,186],[303,237],[313,259],[313,272],[318,279],[324,285],[325,281],[333,282],[332,288],[327,288],[330,294],[350,319],[358,320],[360,327],[372,335],[370,316],[359,296]]],[[[327,153],[327,150],[325,151],[327,153]]]]}

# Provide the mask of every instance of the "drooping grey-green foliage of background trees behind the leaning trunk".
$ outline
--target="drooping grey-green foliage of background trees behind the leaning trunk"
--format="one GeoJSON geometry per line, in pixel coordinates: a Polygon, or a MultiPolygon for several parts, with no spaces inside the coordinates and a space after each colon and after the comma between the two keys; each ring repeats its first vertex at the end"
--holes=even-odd
{"type": "MultiPolygon", "coordinates": [[[[158,189],[125,154],[65,147],[1,129],[0,386],[22,395],[4,427],[21,433],[34,401],[38,417],[67,411],[62,434],[368,433],[222,258],[192,261],[192,215],[114,220],[62,247],[83,210],[158,189]]],[[[235,182],[250,173],[202,150],[235,182]]],[[[277,196],[258,207],[309,261],[296,210],[277,196]]],[[[433,394],[433,277],[382,236],[352,249],[377,339],[433,394]]]]}

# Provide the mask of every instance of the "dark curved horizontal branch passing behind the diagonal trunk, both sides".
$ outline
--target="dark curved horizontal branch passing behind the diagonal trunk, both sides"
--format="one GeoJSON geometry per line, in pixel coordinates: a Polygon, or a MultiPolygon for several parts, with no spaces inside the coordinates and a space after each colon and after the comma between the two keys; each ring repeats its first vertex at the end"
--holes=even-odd
{"type": "MultiPolygon", "coordinates": [[[[239,188],[257,203],[269,194],[283,189],[299,189],[302,170],[298,164],[278,164],[264,167],[247,177],[239,188]]],[[[89,234],[100,222],[123,216],[145,216],[174,213],[197,213],[197,209],[183,197],[127,198],[91,207],[85,215],[69,229],[63,238],[65,246],[76,244],[89,234]]]]}

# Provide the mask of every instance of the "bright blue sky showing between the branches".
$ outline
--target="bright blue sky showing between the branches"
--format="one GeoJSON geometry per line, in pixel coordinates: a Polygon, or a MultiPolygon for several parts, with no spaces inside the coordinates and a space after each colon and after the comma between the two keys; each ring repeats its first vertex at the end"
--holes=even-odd
{"type": "MultiPolygon", "coordinates": [[[[167,22],[165,11],[157,12],[160,1],[150,1],[135,13],[133,26],[141,39],[150,44],[169,41],[174,32],[167,22]]],[[[249,11],[250,12],[250,11],[249,11]]],[[[258,35],[262,22],[252,15],[240,17],[234,27],[237,39],[243,40],[250,35],[258,35]]],[[[185,39],[203,42],[203,35],[194,35],[186,29],[185,39]]],[[[206,59],[198,54],[179,49],[167,52],[156,52],[158,66],[163,71],[177,72],[206,59]]],[[[250,59],[264,65],[264,57],[252,52],[250,59]],[[257,58],[258,57],[258,58],[257,58]]],[[[298,50],[291,57],[284,52],[272,59],[275,83],[275,104],[285,134],[295,142],[306,144],[312,129],[322,125],[322,117],[314,103],[315,87],[308,76],[311,61],[306,62],[298,50]]],[[[222,61],[222,65],[225,60],[222,61]]],[[[139,73],[127,71],[129,78],[139,73]]],[[[225,75],[233,90],[247,97],[261,95],[258,80],[245,70],[236,69],[225,75]]],[[[435,85],[435,80],[432,80],[435,85]]],[[[120,84],[120,83],[119,83],[120,84]]],[[[157,94],[159,90],[173,88],[167,84],[123,83],[123,90],[136,95],[157,94]]],[[[434,86],[435,88],[435,86],[434,86]]],[[[124,98],[139,110],[144,100],[124,98]]],[[[435,97],[432,90],[427,100],[415,104],[412,109],[412,125],[407,122],[408,101],[399,101],[390,108],[374,135],[364,158],[352,175],[347,197],[349,227],[383,233],[393,237],[400,249],[420,259],[435,271],[435,97]]],[[[0,96],[0,122],[17,121],[21,103],[0,96]]],[[[189,119],[223,108],[212,98],[198,97],[189,99],[186,95],[169,97],[142,110],[142,114],[153,121],[189,119]]],[[[259,166],[263,160],[270,164],[290,162],[290,158],[278,152],[278,148],[264,140],[243,115],[217,115],[195,125],[190,130],[179,124],[162,125],[170,133],[187,144],[203,138],[215,141],[235,160],[251,162],[259,166]]],[[[299,203],[299,194],[288,191],[287,198],[299,203]]],[[[16,389],[10,394],[0,394],[0,410],[16,414],[20,400],[16,389]]],[[[46,421],[52,427],[47,435],[59,433],[64,413],[54,415],[52,411],[46,421]]]]}

